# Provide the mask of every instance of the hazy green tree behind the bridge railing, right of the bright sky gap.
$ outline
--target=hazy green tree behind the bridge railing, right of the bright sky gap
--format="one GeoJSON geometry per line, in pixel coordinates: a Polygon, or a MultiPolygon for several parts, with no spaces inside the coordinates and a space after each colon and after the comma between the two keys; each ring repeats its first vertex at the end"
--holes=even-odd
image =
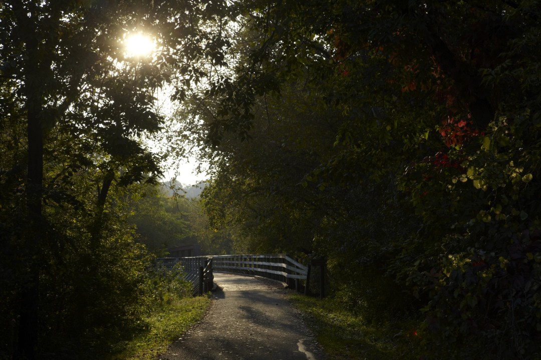
{"type": "MultiPolygon", "coordinates": [[[[311,252],[312,227],[321,216],[311,197],[318,194],[299,184],[332,148],[332,141],[321,136],[333,125],[320,120],[323,108],[310,96],[292,86],[280,101],[261,98],[249,140],[223,134],[214,150],[201,152],[214,171],[202,193],[203,209],[216,231],[237,233],[236,251],[311,252]],[[307,109],[312,111],[307,114],[307,109]],[[306,119],[312,126],[303,124],[306,119]]],[[[196,99],[177,115],[185,118],[187,112],[197,119],[181,131],[212,131],[213,106],[219,105],[196,99]]]]}

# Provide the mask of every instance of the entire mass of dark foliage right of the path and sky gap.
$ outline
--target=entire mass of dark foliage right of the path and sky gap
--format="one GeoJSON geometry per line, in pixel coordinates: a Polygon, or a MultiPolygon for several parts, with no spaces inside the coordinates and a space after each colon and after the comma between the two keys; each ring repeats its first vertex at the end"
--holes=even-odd
{"type": "Polygon", "coordinates": [[[539,357],[538,1],[243,5],[256,42],[197,103],[215,225],[326,256],[352,304],[386,272],[427,358],[539,357]]]}

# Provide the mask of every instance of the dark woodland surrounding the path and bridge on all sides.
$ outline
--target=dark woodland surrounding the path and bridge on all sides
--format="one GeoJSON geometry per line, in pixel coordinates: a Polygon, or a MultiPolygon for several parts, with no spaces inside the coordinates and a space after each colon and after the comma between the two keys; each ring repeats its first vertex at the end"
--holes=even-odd
{"type": "Polygon", "coordinates": [[[4,1],[0,356],[140,326],[153,258],[195,241],[327,259],[413,358],[538,358],[540,5],[4,1]],[[204,215],[152,187],[187,156],[204,215]]]}

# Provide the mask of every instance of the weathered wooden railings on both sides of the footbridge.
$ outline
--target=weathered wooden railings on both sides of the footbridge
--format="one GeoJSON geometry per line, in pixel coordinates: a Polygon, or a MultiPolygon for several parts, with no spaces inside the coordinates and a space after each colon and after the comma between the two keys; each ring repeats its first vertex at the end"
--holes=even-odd
{"type": "Polygon", "coordinates": [[[158,261],[170,268],[182,263],[186,279],[194,284],[194,295],[212,289],[213,271],[266,277],[296,290],[300,289],[299,280],[306,281],[308,274],[307,266],[284,254],[168,257],[159,258],[158,261]]]}

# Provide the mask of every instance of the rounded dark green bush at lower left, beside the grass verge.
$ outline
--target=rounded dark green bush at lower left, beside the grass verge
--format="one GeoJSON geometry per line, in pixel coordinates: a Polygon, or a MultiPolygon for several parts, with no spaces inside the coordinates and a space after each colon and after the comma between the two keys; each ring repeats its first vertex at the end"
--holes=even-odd
{"type": "Polygon", "coordinates": [[[51,358],[99,348],[136,326],[144,311],[141,298],[148,259],[130,238],[111,237],[97,252],[80,241],[63,257],[50,264],[41,281],[45,328],[39,346],[51,358]]]}

